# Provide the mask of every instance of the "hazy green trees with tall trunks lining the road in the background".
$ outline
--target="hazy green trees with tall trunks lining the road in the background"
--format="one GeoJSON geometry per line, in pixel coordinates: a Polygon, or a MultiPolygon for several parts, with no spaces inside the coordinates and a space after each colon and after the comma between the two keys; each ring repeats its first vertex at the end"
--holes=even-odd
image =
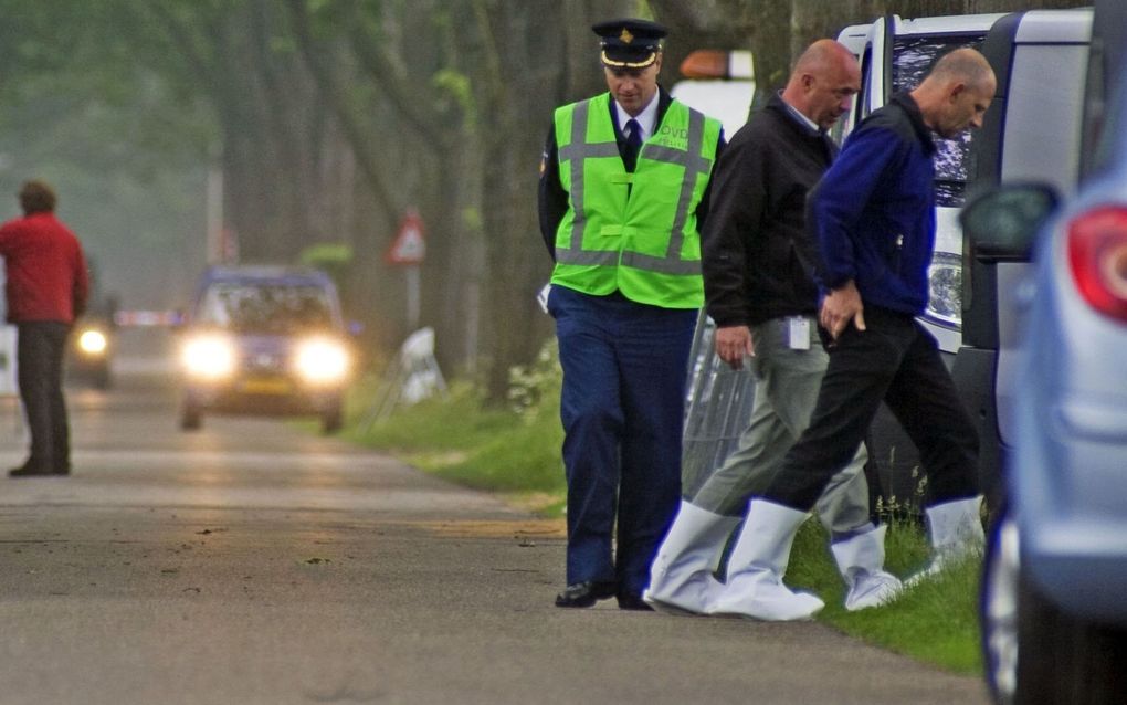
{"type": "Polygon", "coordinates": [[[241,258],[350,248],[349,314],[388,347],[416,321],[383,254],[416,210],[428,246],[417,323],[437,329],[444,367],[476,369],[503,400],[508,368],[550,334],[534,303],[550,271],[536,166],[551,109],[605,89],[593,23],[668,25],[665,85],[694,49],[751,49],[763,94],[811,39],[886,12],[1082,3],[0,0],[0,190],[57,180],[109,277],[158,299],[203,265],[205,175],[219,167],[241,258]],[[130,259],[149,250],[163,259],[130,259]]]}

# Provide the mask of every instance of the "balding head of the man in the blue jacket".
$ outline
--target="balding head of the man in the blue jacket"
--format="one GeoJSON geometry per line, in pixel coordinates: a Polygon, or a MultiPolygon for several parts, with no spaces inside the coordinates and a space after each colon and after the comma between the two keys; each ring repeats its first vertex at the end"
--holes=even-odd
{"type": "Polygon", "coordinates": [[[929,127],[940,136],[953,138],[982,127],[996,88],[986,58],[973,49],[958,49],[935,62],[912,98],[929,127]]]}

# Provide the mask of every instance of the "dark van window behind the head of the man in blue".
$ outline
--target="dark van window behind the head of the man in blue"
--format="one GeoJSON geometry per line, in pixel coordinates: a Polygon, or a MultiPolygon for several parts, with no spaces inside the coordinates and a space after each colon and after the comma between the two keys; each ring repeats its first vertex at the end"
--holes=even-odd
{"type": "MultiPolygon", "coordinates": [[[[920,85],[937,59],[964,46],[982,50],[985,38],[982,34],[896,37],[893,43],[893,91],[912,90],[920,85]]],[[[937,205],[951,208],[962,205],[967,182],[975,173],[970,141],[969,131],[952,140],[935,139],[937,205]]]]}

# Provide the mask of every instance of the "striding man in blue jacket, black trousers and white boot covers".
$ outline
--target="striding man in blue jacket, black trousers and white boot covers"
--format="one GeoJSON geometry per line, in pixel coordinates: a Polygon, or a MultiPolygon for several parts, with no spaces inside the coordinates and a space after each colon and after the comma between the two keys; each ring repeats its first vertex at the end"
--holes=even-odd
{"type": "Polygon", "coordinates": [[[915,317],[928,301],[935,239],[932,133],[951,138],[980,127],[995,87],[978,52],[944,55],[919,87],[857,129],[811,193],[808,224],[822,255],[818,320],[829,363],[809,426],[748,504],[712,614],[805,619],[823,607],[783,584],[790,547],[881,402],[920,449],[928,476],[934,554],[924,573],[982,544],[975,428],[935,340],[915,317]]]}

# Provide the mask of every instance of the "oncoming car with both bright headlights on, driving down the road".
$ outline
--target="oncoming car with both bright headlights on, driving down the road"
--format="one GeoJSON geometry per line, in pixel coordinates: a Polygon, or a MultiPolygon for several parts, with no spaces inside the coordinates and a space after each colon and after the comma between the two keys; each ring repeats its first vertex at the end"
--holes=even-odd
{"type": "Polygon", "coordinates": [[[212,412],[316,414],[326,433],[340,428],[353,354],[323,272],[211,267],[180,333],[183,429],[212,412]]]}

